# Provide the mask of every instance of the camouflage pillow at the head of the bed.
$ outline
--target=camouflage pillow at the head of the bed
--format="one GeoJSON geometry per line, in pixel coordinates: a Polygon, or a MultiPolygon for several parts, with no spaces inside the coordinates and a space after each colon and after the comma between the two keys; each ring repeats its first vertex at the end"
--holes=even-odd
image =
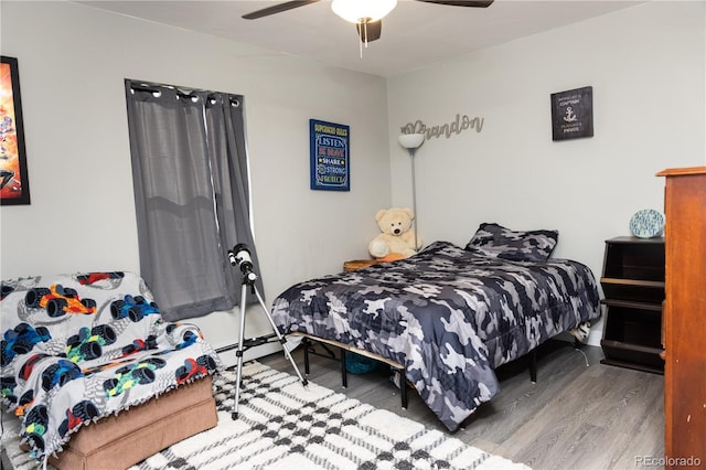
{"type": "Polygon", "coordinates": [[[479,256],[512,261],[546,261],[559,238],[557,231],[517,232],[498,224],[481,224],[466,249],[479,256]]]}

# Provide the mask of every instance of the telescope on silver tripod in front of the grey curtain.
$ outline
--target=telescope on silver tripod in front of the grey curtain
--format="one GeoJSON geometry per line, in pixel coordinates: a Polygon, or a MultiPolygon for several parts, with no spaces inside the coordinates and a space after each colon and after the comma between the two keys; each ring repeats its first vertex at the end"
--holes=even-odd
{"type": "Polygon", "coordinates": [[[279,330],[277,329],[277,325],[275,324],[275,320],[272,320],[272,316],[267,310],[267,307],[265,306],[265,301],[263,300],[260,292],[257,290],[257,287],[255,286],[255,280],[257,279],[257,276],[252,271],[250,268],[252,268],[252,265],[250,267],[247,267],[247,266],[244,267],[243,263],[240,263],[240,269],[243,270],[243,288],[240,289],[240,332],[238,338],[237,350],[235,352],[235,355],[237,357],[237,373],[235,376],[235,406],[233,408],[233,413],[231,414],[231,418],[233,420],[238,418],[238,398],[240,395],[240,380],[243,374],[243,353],[253,346],[259,346],[261,344],[269,343],[270,341],[274,340],[275,337],[277,337],[279,339],[279,342],[282,345],[282,349],[285,350],[285,355],[291,363],[291,366],[295,367],[295,371],[297,372],[297,375],[299,376],[301,384],[303,386],[307,386],[307,384],[309,383],[304,377],[301,376],[301,373],[299,372],[299,368],[297,367],[297,364],[295,363],[295,360],[292,359],[291,354],[289,353],[289,349],[287,348],[287,344],[286,344],[287,339],[285,338],[284,334],[279,332],[279,330]],[[245,300],[247,297],[248,286],[250,287],[252,292],[255,293],[255,296],[257,297],[257,301],[263,308],[265,316],[269,320],[269,324],[272,327],[272,331],[275,332],[275,334],[269,334],[261,338],[252,338],[247,340],[245,339],[245,300]]]}

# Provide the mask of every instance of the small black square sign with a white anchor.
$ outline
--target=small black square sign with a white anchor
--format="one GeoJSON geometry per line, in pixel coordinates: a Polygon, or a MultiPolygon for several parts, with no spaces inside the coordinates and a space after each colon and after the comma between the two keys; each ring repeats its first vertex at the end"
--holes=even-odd
{"type": "Polygon", "coordinates": [[[593,87],[552,94],[552,140],[593,137],[593,87]]]}

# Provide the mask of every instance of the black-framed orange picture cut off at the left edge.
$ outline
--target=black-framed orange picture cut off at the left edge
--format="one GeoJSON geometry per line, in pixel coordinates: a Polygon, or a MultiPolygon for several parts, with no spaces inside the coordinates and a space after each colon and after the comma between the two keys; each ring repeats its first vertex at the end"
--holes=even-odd
{"type": "Polygon", "coordinates": [[[30,203],[18,60],[4,55],[0,61],[0,203],[30,203]]]}

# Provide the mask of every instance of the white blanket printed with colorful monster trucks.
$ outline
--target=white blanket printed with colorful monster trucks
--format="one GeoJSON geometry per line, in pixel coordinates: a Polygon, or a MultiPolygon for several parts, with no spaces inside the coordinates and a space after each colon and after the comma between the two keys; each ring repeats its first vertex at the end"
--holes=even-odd
{"type": "Polygon", "coordinates": [[[82,426],[221,368],[197,327],[162,320],[132,273],[3,280],[2,402],[42,459],[82,426]]]}

